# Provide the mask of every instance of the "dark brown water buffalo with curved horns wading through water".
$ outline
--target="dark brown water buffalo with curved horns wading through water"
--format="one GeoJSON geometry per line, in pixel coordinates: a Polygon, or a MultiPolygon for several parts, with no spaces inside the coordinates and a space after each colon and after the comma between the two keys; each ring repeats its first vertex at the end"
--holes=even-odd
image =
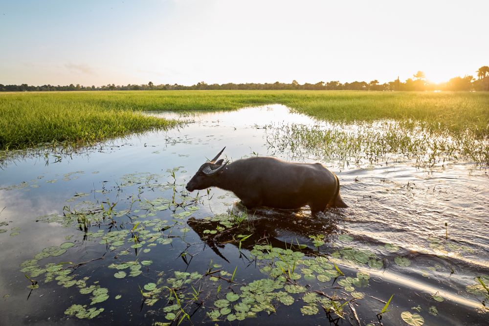
{"type": "Polygon", "coordinates": [[[338,177],[319,163],[289,163],[273,157],[216,162],[224,149],[200,166],[185,187],[189,192],[218,187],[232,191],[248,208],[309,205],[317,213],[326,207],[348,207],[339,194],[338,177]]]}

